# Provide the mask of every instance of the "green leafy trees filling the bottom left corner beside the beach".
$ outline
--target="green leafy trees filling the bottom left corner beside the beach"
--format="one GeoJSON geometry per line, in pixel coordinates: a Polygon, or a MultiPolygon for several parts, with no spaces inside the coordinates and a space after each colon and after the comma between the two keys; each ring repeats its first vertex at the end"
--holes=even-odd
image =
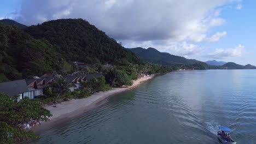
{"type": "Polygon", "coordinates": [[[25,131],[22,124],[31,119],[48,121],[46,116],[52,115],[42,107],[40,100],[26,97],[17,103],[9,95],[0,93],[0,143],[9,144],[37,138],[33,131],[25,131]]]}

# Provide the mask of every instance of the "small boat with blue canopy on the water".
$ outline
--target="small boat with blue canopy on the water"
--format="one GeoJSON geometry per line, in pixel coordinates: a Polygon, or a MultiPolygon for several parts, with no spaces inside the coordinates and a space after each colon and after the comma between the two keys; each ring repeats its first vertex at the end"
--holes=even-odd
{"type": "Polygon", "coordinates": [[[236,144],[234,140],[231,139],[230,133],[231,129],[228,127],[219,127],[217,133],[218,139],[225,144],[236,144]]]}

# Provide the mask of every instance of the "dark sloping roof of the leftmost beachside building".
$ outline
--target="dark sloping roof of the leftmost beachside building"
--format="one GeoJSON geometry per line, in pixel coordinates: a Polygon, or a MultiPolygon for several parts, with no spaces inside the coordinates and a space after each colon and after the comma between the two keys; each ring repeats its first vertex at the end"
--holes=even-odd
{"type": "Polygon", "coordinates": [[[10,96],[27,92],[27,83],[25,80],[8,81],[0,83],[0,92],[10,96]]]}

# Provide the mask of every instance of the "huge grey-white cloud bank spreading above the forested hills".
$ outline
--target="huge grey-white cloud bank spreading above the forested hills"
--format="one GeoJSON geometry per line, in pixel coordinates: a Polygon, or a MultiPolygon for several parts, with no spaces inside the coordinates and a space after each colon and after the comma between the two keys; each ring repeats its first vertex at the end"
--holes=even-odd
{"type": "Polygon", "coordinates": [[[213,43],[225,37],[226,31],[208,33],[225,23],[220,17],[222,6],[234,1],[237,0],[23,0],[16,20],[36,25],[82,18],[129,47],[148,43],[152,45],[146,47],[158,49],[159,45],[154,44],[162,41],[161,45],[167,48],[161,49],[185,56],[202,50],[193,43],[213,43]]]}

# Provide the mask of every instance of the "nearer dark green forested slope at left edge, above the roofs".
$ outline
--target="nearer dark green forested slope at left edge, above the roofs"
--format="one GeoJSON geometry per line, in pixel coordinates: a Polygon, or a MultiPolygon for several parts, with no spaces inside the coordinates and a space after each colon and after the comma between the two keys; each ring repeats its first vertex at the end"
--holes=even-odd
{"type": "Polygon", "coordinates": [[[0,82],[50,73],[59,55],[47,40],[0,23],[0,82]]]}

